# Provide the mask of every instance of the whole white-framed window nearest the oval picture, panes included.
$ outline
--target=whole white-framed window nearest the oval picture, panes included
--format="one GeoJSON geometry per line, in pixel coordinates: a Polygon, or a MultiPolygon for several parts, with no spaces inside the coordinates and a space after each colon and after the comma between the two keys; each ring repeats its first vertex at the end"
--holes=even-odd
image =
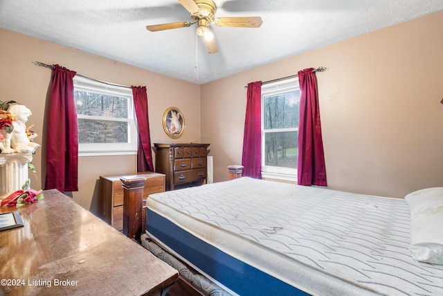
{"type": "Polygon", "coordinates": [[[135,154],[132,89],[75,76],[80,156],[135,154]]]}

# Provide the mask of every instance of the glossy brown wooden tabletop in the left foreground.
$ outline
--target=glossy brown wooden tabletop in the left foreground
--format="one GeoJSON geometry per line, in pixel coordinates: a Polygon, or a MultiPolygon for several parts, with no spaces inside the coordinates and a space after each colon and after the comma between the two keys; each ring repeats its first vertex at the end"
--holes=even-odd
{"type": "Polygon", "coordinates": [[[57,190],[35,204],[0,208],[8,211],[19,211],[24,227],[0,232],[0,280],[10,280],[1,281],[0,295],[151,295],[178,278],[57,190]]]}

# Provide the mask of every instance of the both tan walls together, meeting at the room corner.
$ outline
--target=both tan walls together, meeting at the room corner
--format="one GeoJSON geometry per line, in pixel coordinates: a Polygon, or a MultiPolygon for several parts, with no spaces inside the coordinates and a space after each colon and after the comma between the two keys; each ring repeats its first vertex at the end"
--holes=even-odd
{"type": "MultiPolygon", "coordinates": [[[[443,186],[442,35],[443,12],[437,12],[199,86],[0,29],[0,101],[33,111],[28,123],[43,146],[34,156],[33,189],[42,189],[46,175],[51,79],[51,70],[33,61],[120,85],[147,85],[152,143],[177,142],[163,132],[161,116],[179,107],[186,117],[180,142],[211,144],[219,182],[228,179],[226,166],[242,160],[244,85],[323,66],[328,70],[317,77],[329,188],[402,197],[443,186]]],[[[73,198],[96,212],[98,176],[134,172],[134,156],[80,157],[80,191],[73,198]]]]}

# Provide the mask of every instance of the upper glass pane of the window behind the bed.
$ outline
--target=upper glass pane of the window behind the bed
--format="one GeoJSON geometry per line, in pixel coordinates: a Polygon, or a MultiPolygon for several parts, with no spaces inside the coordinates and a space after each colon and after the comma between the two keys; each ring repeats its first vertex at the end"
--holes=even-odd
{"type": "Polygon", "coordinates": [[[297,128],[300,91],[264,97],[264,129],[297,128]]]}

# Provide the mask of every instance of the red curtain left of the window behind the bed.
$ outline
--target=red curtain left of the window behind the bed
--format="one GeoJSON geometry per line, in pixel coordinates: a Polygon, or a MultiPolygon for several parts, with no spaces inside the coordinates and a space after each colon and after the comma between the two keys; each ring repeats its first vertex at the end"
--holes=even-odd
{"type": "Polygon", "coordinates": [[[246,118],[244,120],[243,175],[262,178],[262,82],[248,83],[246,118]]]}

